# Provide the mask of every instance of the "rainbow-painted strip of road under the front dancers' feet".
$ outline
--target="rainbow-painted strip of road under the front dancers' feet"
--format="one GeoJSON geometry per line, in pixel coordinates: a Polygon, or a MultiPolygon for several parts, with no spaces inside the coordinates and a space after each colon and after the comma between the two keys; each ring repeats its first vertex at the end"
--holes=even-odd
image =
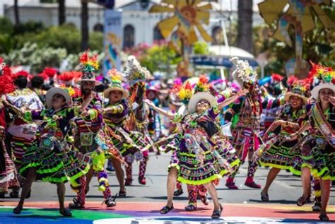
{"type": "MultiPolygon", "coordinates": [[[[319,223],[318,213],[310,206],[298,207],[281,204],[224,204],[220,220],[210,218],[212,208],[201,206],[197,211],[184,211],[184,204],[174,204],[175,209],[160,215],[163,203],[119,202],[114,208],[104,208],[99,202],[88,202],[83,210],[73,210],[73,217],[63,218],[57,202],[27,201],[20,215],[13,214],[16,202],[0,201],[1,224],[144,224],[144,223],[319,223]]],[[[329,206],[329,218],[335,220],[335,206],[329,206]]]]}

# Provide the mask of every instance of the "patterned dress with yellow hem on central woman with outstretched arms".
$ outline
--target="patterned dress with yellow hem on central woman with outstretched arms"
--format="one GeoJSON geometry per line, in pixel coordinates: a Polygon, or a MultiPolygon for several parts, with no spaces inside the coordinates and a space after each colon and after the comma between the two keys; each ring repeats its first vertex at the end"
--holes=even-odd
{"type": "Polygon", "coordinates": [[[177,160],[170,163],[170,167],[176,166],[179,170],[180,182],[206,184],[228,173],[230,165],[218,152],[214,140],[219,130],[215,123],[218,112],[214,106],[202,114],[187,114],[182,119],[182,138],[176,153],[177,160]],[[213,133],[215,127],[217,132],[213,133]]]}

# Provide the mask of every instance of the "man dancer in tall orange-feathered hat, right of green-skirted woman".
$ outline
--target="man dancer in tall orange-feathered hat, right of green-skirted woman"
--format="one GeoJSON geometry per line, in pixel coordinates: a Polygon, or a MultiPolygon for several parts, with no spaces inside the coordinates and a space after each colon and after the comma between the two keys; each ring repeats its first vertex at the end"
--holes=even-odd
{"type": "Polygon", "coordinates": [[[88,52],[81,54],[81,68],[83,76],[77,84],[81,86],[82,97],[74,100],[76,105],[81,105],[86,108],[81,113],[81,116],[74,119],[76,131],[74,134],[74,146],[82,154],[88,155],[92,160],[92,166],[86,174],[86,177],[77,179],[80,183],[79,187],[74,187],[77,191],[77,197],[73,199],[73,203],[69,204],[70,208],[84,208],[86,193],[89,189],[90,180],[97,173],[99,190],[102,191],[105,204],[107,207],[116,206],[116,202],[112,199],[112,193],[107,180],[107,172],[104,169],[105,153],[107,149],[102,149],[98,145],[98,140],[101,139],[98,134],[103,128],[102,122],[102,100],[99,95],[93,90],[95,86],[101,84],[95,80],[95,73],[98,71],[97,56],[89,57],[88,52]]]}

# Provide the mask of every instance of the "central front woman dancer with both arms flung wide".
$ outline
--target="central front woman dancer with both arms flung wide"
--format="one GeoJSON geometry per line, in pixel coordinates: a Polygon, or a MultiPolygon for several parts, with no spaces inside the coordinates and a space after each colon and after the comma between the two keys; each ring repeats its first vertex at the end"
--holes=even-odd
{"type": "MultiPolygon", "coordinates": [[[[182,95],[191,97],[192,89],[189,83],[185,84],[182,95]],[[189,86],[189,87],[187,87],[189,86]]],[[[203,184],[213,199],[214,211],[212,218],[220,218],[223,207],[218,201],[218,195],[213,181],[228,173],[230,166],[218,153],[218,141],[220,129],[215,118],[223,107],[234,102],[246,92],[242,90],[237,95],[216,105],[216,98],[205,91],[208,85],[199,81],[194,93],[187,103],[187,114],[172,114],[155,107],[152,102],[146,103],[155,111],[178,122],[179,133],[175,142],[177,151],[172,154],[172,162],[167,176],[167,204],[161,210],[161,214],[173,209],[173,191],[177,179],[185,184],[203,184]]],[[[182,99],[182,98],[181,98],[182,99]]],[[[184,101],[186,98],[184,98],[184,101]]],[[[229,151],[221,148],[221,150],[229,151]]],[[[228,153],[228,152],[227,152],[228,153]]]]}

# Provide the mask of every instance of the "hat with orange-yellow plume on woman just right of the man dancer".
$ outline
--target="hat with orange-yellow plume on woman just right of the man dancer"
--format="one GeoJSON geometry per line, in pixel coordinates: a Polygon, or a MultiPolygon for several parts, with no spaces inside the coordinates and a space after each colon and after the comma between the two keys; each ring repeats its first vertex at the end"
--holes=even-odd
{"type": "Polygon", "coordinates": [[[105,98],[109,98],[110,92],[114,90],[120,91],[122,93],[122,99],[128,98],[128,91],[124,90],[122,87],[122,73],[117,71],[117,69],[110,69],[110,71],[107,73],[107,76],[110,78],[110,86],[103,92],[105,98]]]}

